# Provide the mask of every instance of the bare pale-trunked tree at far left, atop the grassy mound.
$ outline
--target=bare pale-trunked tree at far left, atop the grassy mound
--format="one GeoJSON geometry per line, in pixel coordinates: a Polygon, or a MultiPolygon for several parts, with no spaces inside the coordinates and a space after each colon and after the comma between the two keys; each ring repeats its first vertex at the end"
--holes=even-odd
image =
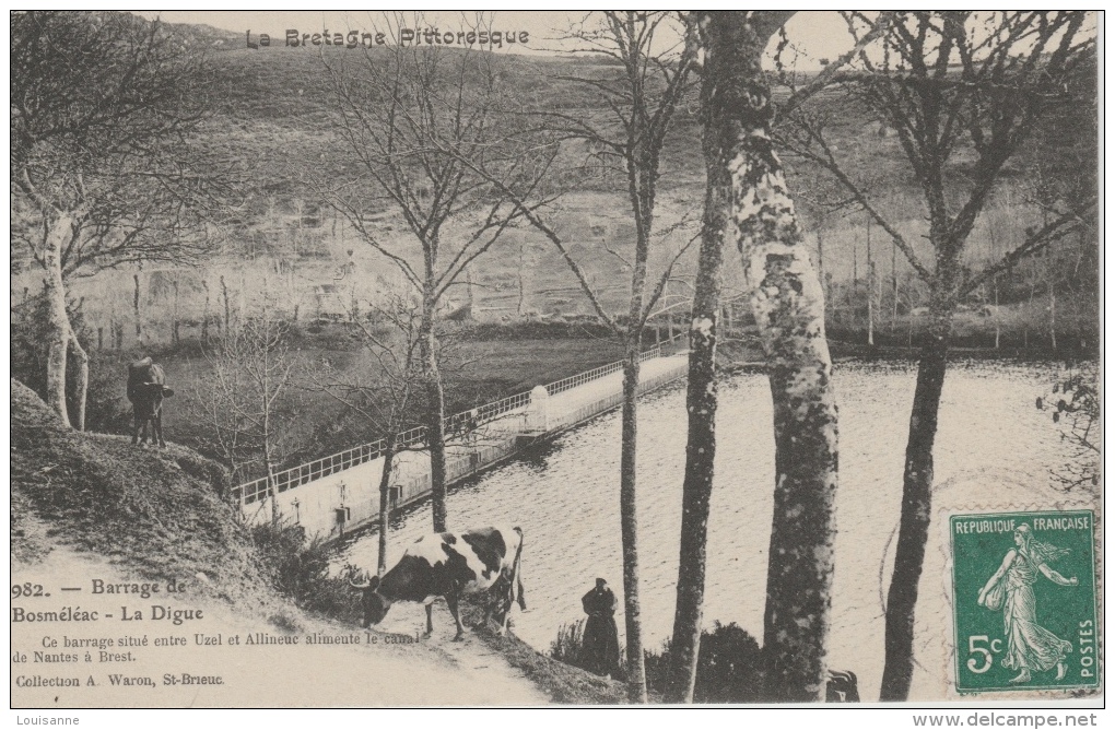
{"type": "Polygon", "coordinates": [[[125,263],[197,253],[190,213],[210,173],[190,136],[202,119],[201,53],[126,13],[11,13],[11,245],[41,267],[50,302],[47,402],[85,427],[88,356],[67,282],[125,263]],[[77,412],[66,407],[74,352],[77,412]]]}

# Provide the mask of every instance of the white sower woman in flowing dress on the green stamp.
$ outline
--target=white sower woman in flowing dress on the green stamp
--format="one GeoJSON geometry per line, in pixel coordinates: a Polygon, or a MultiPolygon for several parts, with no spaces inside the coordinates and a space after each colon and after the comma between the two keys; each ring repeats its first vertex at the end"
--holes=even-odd
{"type": "Polygon", "coordinates": [[[1018,670],[1018,677],[1010,680],[1012,683],[1029,682],[1031,672],[1054,666],[1060,681],[1067,671],[1065,655],[1073,651],[1073,644],[1038,625],[1034,583],[1038,573],[1057,585],[1077,585],[1079,581],[1066,578],[1047,565],[1068,551],[1036,539],[1029,525],[1015,528],[1015,545],[979,592],[979,605],[992,611],[1002,609],[1002,629],[1007,635],[1002,665],[1018,670]]]}

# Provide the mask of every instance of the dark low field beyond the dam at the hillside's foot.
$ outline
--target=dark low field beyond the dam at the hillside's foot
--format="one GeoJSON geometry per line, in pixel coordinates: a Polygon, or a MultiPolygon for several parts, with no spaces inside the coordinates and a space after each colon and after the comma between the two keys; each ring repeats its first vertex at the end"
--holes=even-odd
{"type": "MultiPolygon", "coordinates": [[[[1094,351],[1096,312],[1089,308],[1089,298],[1061,298],[1057,313],[1059,352],[1094,351]]],[[[863,320],[850,322],[849,314],[830,312],[828,335],[834,354],[872,357],[874,351],[865,349],[863,320]]],[[[889,311],[880,312],[875,325],[876,345],[904,349],[912,344],[917,348],[924,319],[920,313],[902,313],[892,321],[889,311]]],[[[726,335],[720,350],[726,364],[762,360],[755,335],[738,329],[746,324],[745,320],[737,313],[737,329],[726,335]]],[[[996,323],[1000,330],[1001,357],[1035,353],[1053,357],[1058,352],[1051,349],[1049,310],[1047,302],[1040,298],[1029,304],[968,309],[958,313],[954,344],[986,350],[992,348],[996,323]]],[[[374,424],[321,389],[327,382],[359,382],[362,379],[362,382],[375,383],[380,376],[371,358],[351,337],[349,325],[331,323],[310,329],[317,330],[317,333],[307,331],[297,343],[297,386],[279,405],[279,420],[287,424],[282,428],[291,446],[284,460],[287,466],[372,441],[382,435],[374,424]]],[[[565,327],[565,334],[561,334],[561,328],[556,325],[539,323],[537,329],[537,334],[531,337],[530,327],[466,328],[460,333],[464,337],[452,338],[443,358],[447,413],[529,391],[534,386],[591,370],[622,357],[620,343],[599,334],[592,337],[584,328],[565,327]],[[544,334],[547,328],[554,330],[550,335],[544,334]]],[[[186,333],[183,335],[187,337],[186,333]]],[[[653,335],[650,334],[646,345],[652,344],[653,335]]],[[[190,403],[204,399],[212,380],[212,367],[196,345],[195,340],[185,342],[181,349],[166,345],[156,357],[166,370],[168,383],[176,390],[176,396],[166,405],[166,437],[172,441],[201,447],[207,434],[190,403]]],[[[912,354],[915,350],[910,352],[912,354]]],[[[94,350],[93,356],[91,382],[97,390],[95,399],[98,405],[96,412],[90,412],[99,419],[93,427],[109,432],[129,432],[125,373],[126,363],[135,357],[135,350],[130,347],[122,351],[94,350]]],[[[418,412],[416,402],[413,413],[416,416],[418,412]]],[[[417,421],[411,420],[410,426],[415,425],[417,421]]],[[[203,447],[202,450],[206,451],[203,447]]],[[[212,451],[207,452],[215,456],[212,451]]]]}

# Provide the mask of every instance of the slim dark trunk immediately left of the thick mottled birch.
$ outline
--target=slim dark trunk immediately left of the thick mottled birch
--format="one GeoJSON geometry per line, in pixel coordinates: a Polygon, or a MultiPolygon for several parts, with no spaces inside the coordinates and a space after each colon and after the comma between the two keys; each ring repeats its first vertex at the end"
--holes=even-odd
{"type": "MultiPolygon", "coordinates": [[[[711,95],[716,88],[715,84],[706,80],[702,100],[706,93],[711,95]]],[[[711,117],[706,118],[706,128],[712,128],[716,121],[711,117]]],[[[681,487],[678,603],[673,614],[670,678],[666,693],[666,701],[670,703],[694,701],[700,654],[708,514],[716,459],[716,314],[720,303],[720,271],[731,195],[727,158],[718,142],[719,138],[714,134],[706,133],[704,147],[708,183],[689,338],[689,383],[686,392],[689,437],[686,442],[686,476],[681,487]]],[[[818,237],[818,250],[820,245],[818,237]]],[[[730,304],[728,328],[731,328],[730,304]]]]}

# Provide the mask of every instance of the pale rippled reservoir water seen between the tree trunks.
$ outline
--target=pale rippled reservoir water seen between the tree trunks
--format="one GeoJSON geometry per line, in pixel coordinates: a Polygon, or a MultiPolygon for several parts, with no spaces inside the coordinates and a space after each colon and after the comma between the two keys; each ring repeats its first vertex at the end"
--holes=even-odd
{"type": "MultiPolygon", "coordinates": [[[[1057,373],[1056,366],[1032,363],[950,366],[935,449],[938,506],[981,512],[1000,502],[1044,502],[1048,507],[1049,499],[1064,498],[1050,470],[1065,464],[1069,452],[1049,412],[1034,407],[1057,373]]],[[[878,698],[882,675],[881,586],[890,580],[886,561],[899,518],[914,376],[911,364],[878,362],[841,362],[834,376],[840,491],[830,664],[856,671],[864,700],[878,698]]],[[[706,625],[736,622],[760,642],[774,481],[770,411],[765,376],[736,374],[721,382],[705,603],[706,625]]],[[[683,383],[640,400],[639,542],[649,649],[660,648],[672,631],[685,439],[683,383]]],[[[622,609],[619,444],[620,417],[612,411],[449,494],[450,529],[489,524],[523,528],[530,610],[516,609],[512,621],[515,634],[540,651],[549,650],[561,624],[583,617],[580,598],[597,576],[608,580],[622,609]]],[[[388,564],[430,525],[428,503],[398,517],[388,564]]],[[[943,542],[938,527],[932,539],[943,542]]],[[[942,583],[942,551],[935,544],[927,557],[922,585],[929,588],[923,594],[942,583]]],[[[336,564],[374,568],[376,551],[377,537],[369,534],[346,546],[336,564]]],[[[419,606],[399,604],[385,627],[413,633],[423,622],[419,606]]],[[[617,623],[622,634],[619,614],[617,623]]],[[[435,631],[452,631],[444,607],[435,611],[435,631]]],[[[944,668],[921,669],[939,675],[944,668]]]]}

